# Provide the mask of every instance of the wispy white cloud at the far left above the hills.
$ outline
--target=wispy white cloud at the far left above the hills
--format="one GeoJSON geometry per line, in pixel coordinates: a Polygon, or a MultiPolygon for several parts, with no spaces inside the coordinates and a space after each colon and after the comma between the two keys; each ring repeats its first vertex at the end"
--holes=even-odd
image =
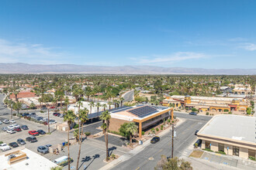
{"type": "Polygon", "coordinates": [[[9,42],[0,39],[1,63],[62,63],[69,55],[42,44],[9,42]]]}

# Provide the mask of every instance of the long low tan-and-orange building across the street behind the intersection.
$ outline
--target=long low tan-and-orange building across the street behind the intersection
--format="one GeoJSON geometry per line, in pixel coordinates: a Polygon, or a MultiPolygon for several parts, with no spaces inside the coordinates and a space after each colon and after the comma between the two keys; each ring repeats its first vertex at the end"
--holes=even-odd
{"type": "Polygon", "coordinates": [[[191,97],[174,95],[163,100],[163,106],[183,107],[185,110],[195,108],[201,111],[228,112],[231,110],[245,111],[250,106],[247,99],[230,97],[191,97]]]}

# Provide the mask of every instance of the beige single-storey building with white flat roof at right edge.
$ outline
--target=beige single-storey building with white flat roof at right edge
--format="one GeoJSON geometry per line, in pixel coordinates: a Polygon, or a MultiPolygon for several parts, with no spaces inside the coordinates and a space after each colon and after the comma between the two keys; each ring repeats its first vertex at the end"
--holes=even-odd
{"type": "Polygon", "coordinates": [[[256,157],[256,117],[221,114],[213,117],[197,133],[202,149],[224,151],[241,158],[256,157]]]}

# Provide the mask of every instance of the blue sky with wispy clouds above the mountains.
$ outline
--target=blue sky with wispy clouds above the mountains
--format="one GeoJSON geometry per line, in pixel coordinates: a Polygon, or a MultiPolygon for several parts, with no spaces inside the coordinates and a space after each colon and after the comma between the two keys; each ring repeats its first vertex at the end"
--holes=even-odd
{"type": "Polygon", "coordinates": [[[254,0],[2,0],[0,63],[256,68],[254,0]]]}

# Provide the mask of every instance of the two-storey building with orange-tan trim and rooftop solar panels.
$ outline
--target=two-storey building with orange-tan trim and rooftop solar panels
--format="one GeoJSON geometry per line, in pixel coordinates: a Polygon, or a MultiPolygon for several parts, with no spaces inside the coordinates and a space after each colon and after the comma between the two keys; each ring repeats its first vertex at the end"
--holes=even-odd
{"type": "Polygon", "coordinates": [[[167,117],[173,120],[172,107],[156,107],[149,105],[137,105],[133,107],[124,107],[118,110],[112,110],[109,124],[110,131],[119,131],[122,124],[135,122],[138,126],[139,136],[141,138],[142,131],[154,126],[154,124],[163,121],[167,117]]]}

